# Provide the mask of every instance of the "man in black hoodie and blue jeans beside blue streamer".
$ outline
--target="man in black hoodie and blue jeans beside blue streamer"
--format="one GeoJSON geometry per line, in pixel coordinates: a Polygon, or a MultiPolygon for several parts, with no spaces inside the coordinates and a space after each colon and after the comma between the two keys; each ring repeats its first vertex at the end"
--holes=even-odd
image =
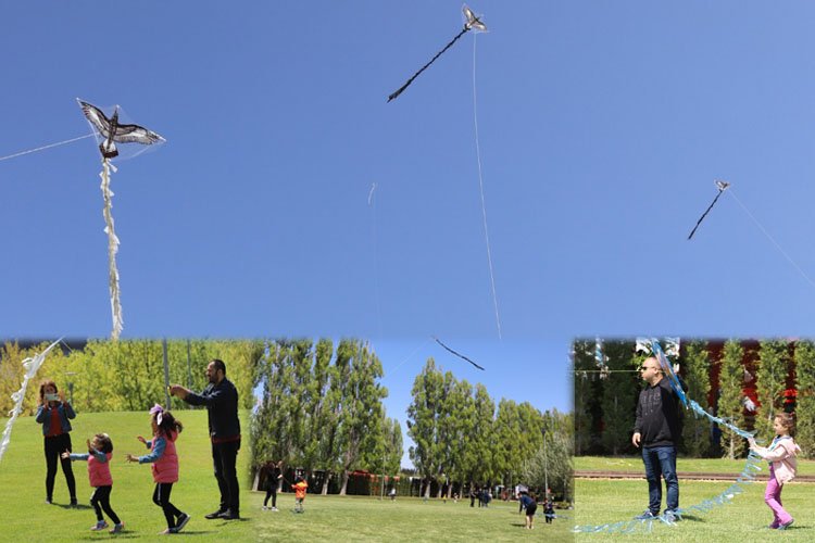
{"type": "MultiPolygon", "coordinates": [[[[645,465],[648,480],[648,509],[635,517],[648,520],[660,516],[662,505],[662,481],[665,479],[667,491],[664,518],[669,521],[679,519],[679,479],[676,475],[676,446],[681,435],[679,396],[668,379],[663,375],[660,362],[651,356],[640,366],[645,388],[640,392],[637,402],[637,419],[634,424],[631,443],[642,445],[642,462],[645,465]]],[[[680,384],[685,388],[685,383],[680,384]]]]}

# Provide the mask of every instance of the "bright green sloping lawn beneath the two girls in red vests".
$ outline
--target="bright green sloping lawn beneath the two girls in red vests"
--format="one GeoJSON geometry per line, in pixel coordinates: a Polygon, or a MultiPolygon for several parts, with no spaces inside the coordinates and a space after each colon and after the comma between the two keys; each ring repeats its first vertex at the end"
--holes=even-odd
{"type": "MultiPolygon", "coordinates": [[[[240,479],[241,501],[247,504],[241,515],[246,520],[206,520],[203,515],[218,505],[218,490],[212,471],[212,455],[206,430],[206,412],[176,411],[184,424],[178,438],[177,451],[180,463],[180,480],[173,485],[172,502],[192,518],[184,530],[187,538],[196,541],[256,541],[256,513],[249,504],[252,493],[246,477],[240,479]]],[[[248,426],[241,416],[242,428],[248,426]]],[[[5,419],[0,419],[5,428],[5,419]]],[[[111,506],[125,523],[125,532],[118,535],[127,540],[154,541],[166,528],[161,508],[152,503],[153,479],[148,465],[127,464],[126,453],[145,454],[146,449],[136,441],[136,435],[150,435],[150,415],[147,413],[89,413],[78,414],[72,421],[71,439],[75,452],[85,452],[85,440],[93,433],[108,432],[113,440],[113,493],[111,506]]],[[[248,446],[238,455],[238,469],[246,473],[248,446]]],[[[46,460],[42,454],[41,426],[34,417],[17,419],[3,459],[0,460],[0,510],[2,528],[0,541],[70,542],[77,540],[108,540],[106,531],[90,532],[96,515],[89,505],[92,489],[88,482],[87,463],[74,462],[79,507],[70,508],[68,493],[62,469],[57,472],[54,504],[46,498],[46,460]]]]}

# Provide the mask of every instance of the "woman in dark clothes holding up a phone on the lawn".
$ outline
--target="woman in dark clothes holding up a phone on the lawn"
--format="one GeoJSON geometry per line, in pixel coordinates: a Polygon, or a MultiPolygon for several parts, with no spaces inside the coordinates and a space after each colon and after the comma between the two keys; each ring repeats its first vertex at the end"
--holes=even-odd
{"type": "Polygon", "coordinates": [[[57,478],[57,463],[62,465],[65,482],[71,494],[71,506],[76,506],[76,479],[71,467],[71,459],[60,455],[71,452],[71,421],[76,413],[65,401],[65,393],[57,390],[57,383],[46,379],[39,386],[39,407],[35,420],[42,425],[46,451],[46,503],[53,502],[53,483],[57,478]]]}

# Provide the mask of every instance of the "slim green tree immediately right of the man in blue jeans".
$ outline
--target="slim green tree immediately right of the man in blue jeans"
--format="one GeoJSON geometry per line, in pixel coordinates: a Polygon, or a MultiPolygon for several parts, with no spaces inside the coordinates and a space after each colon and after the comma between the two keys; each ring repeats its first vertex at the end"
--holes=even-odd
{"type": "MultiPolygon", "coordinates": [[[[681,374],[688,386],[688,397],[712,413],[707,403],[711,392],[711,359],[705,341],[691,341],[685,346],[681,374]]],[[[704,417],[685,417],[682,441],[688,455],[706,456],[711,451],[711,422],[704,417]]]]}

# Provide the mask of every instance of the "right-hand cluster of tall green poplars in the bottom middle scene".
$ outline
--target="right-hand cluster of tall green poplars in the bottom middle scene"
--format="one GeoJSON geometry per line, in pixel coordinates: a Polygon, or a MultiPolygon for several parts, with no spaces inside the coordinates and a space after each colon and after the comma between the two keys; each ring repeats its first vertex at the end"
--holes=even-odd
{"type": "Polygon", "coordinates": [[[530,403],[502,399],[496,407],[487,388],[442,372],[429,358],[416,376],[408,408],[409,450],[424,477],[423,493],[437,496],[475,487],[517,483],[541,492],[544,483],[572,496],[573,424],[569,415],[541,413],[530,403]]]}

